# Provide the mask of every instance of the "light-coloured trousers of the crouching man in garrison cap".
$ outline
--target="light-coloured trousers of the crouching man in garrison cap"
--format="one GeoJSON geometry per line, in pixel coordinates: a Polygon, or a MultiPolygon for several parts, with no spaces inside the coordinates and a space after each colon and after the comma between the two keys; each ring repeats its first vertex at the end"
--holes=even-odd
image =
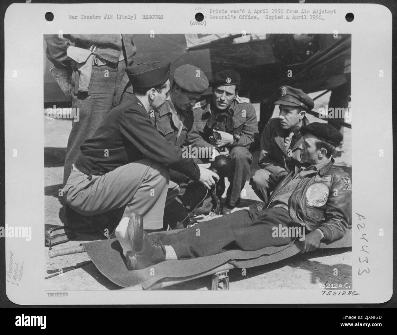
{"type": "Polygon", "coordinates": [[[73,169],[63,193],[67,205],[84,216],[121,210],[122,219],[135,212],[143,216],[144,229],[156,230],[163,227],[164,207],[179,186],[170,182],[168,167],[143,159],[100,176],[73,169]]]}

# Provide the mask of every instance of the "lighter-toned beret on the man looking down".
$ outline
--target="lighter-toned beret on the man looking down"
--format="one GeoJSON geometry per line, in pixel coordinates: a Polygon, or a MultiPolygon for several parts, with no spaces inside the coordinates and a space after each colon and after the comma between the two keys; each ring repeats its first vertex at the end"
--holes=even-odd
{"type": "Polygon", "coordinates": [[[185,64],[174,71],[174,82],[186,91],[203,94],[208,88],[208,79],[198,67],[185,64]],[[200,76],[197,76],[200,73],[200,76]]]}

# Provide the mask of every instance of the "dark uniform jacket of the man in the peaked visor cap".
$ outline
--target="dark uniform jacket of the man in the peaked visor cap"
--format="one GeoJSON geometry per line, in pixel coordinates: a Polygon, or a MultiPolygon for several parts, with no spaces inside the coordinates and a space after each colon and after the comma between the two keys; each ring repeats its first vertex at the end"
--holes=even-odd
{"type": "MultiPolygon", "coordinates": [[[[302,126],[309,124],[306,117],[303,117],[302,126]]],[[[293,147],[285,150],[284,140],[289,135],[289,130],[281,128],[279,119],[270,119],[266,124],[262,137],[260,138],[259,166],[264,168],[276,177],[280,174],[287,174],[301,161],[299,145],[303,142],[301,137],[293,147]]]]}

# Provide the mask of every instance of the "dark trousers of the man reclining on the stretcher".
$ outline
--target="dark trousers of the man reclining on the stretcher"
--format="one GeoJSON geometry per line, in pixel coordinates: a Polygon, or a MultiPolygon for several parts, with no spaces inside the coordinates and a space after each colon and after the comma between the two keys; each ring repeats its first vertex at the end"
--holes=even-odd
{"type": "MultiPolygon", "coordinates": [[[[171,245],[178,259],[216,255],[231,249],[245,251],[287,245],[295,237],[279,237],[277,229],[299,226],[281,207],[263,211],[241,210],[204,221],[174,234],[156,233],[164,245],[171,245]]],[[[280,235],[281,236],[281,235],[280,235]]]]}

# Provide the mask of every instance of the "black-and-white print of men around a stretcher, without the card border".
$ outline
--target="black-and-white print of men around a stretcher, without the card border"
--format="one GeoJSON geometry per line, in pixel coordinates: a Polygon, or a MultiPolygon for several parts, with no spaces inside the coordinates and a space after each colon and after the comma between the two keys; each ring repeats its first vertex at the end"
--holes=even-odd
{"type": "Polygon", "coordinates": [[[46,289],[351,291],[350,34],[44,54],[46,289]]]}

